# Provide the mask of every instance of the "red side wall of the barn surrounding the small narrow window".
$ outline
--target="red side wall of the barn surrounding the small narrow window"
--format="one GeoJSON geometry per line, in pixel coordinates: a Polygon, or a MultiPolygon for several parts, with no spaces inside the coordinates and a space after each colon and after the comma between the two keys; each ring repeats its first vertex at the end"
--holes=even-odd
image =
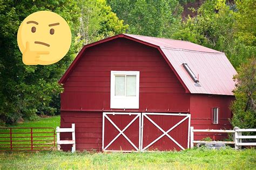
{"type": "MultiPolygon", "coordinates": [[[[231,129],[230,121],[232,113],[229,109],[233,96],[217,96],[210,94],[191,94],[190,113],[191,126],[194,129],[231,129]],[[219,124],[212,124],[212,107],[219,107],[219,124]]],[[[195,140],[210,136],[212,133],[196,133],[195,140]]],[[[225,134],[215,134],[215,140],[227,138],[225,134]]]]}

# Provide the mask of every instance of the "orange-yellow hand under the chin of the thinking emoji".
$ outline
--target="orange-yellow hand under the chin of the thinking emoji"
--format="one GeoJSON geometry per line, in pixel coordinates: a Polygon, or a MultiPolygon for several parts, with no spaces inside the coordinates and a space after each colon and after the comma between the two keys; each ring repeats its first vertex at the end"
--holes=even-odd
{"type": "Polygon", "coordinates": [[[22,55],[22,62],[26,65],[37,65],[40,55],[49,55],[49,51],[30,51],[29,42],[26,42],[26,49],[22,55]]]}

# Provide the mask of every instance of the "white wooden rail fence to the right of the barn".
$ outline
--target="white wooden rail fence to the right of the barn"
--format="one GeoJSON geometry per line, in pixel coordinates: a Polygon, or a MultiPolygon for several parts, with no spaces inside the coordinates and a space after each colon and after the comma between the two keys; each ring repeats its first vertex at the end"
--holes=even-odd
{"type": "Polygon", "coordinates": [[[211,144],[234,144],[235,149],[241,148],[241,146],[256,146],[256,142],[242,142],[242,139],[256,139],[256,135],[242,135],[242,132],[256,132],[256,128],[234,128],[234,130],[194,130],[194,127],[190,127],[190,148],[194,147],[194,144],[198,143],[211,143],[211,144]],[[209,133],[233,133],[233,141],[203,141],[194,140],[194,132],[209,132],[209,133]]]}

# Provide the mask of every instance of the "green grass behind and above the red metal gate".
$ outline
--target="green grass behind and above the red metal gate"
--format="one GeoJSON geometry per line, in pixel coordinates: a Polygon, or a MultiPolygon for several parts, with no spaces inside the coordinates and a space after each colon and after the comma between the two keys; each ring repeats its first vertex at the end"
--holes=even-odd
{"type": "MultiPolygon", "coordinates": [[[[9,126],[12,129],[12,147],[14,150],[24,150],[31,148],[31,129],[29,128],[15,128],[15,127],[51,127],[51,128],[33,128],[33,149],[51,149],[54,146],[53,131],[59,126],[60,116],[53,116],[49,118],[41,118],[38,121],[24,121],[24,123],[9,126]],[[53,129],[52,129],[53,128],[53,129]],[[51,132],[51,133],[42,133],[51,132]],[[42,137],[42,138],[41,138],[42,137]],[[15,141],[19,140],[19,141],[15,141]],[[37,141],[48,140],[48,141],[37,141]],[[44,144],[44,145],[42,145],[44,144]],[[43,148],[39,148],[43,147],[43,148]]],[[[10,150],[10,129],[0,129],[0,151],[10,150]]]]}

